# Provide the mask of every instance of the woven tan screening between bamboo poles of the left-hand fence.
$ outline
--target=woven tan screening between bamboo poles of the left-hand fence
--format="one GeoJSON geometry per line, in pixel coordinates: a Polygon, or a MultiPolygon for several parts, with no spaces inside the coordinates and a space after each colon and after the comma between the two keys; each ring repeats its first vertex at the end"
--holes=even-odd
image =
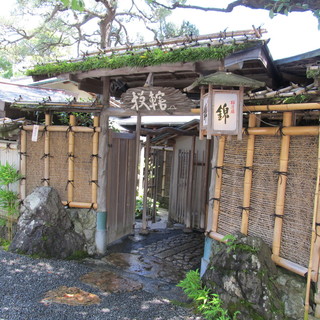
{"type": "MultiPolygon", "coordinates": [[[[26,195],[37,186],[44,185],[44,136],[39,132],[38,141],[32,142],[32,131],[27,131],[26,145],[26,195]]],[[[75,133],[74,181],[68,182],[68,135],[50,132],[49,185],[57,189],[62,201],[67,201],[68,184],[73,186],[73,202],[88,203],[92,188],[92,133],[75,133]]],[[[23,157],[23,155],[22,155],[23,157]]]]}

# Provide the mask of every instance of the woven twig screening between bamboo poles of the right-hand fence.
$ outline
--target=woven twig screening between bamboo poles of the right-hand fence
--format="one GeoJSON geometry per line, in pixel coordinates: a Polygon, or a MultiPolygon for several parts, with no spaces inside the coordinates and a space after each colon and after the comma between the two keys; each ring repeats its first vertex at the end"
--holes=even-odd
{"type": "MultiPolygon", "coordinates": [[[[244,166],[247,137],[228,139],[224,150],[220,212],[217,232],[235,233],[241,228],[244,166]]],[[[272,246],[277,199],[281,136],[256,136],[248,235],[272,246]]],[[[290,142],[285,212],[280,256],[308,266],[312,215],[317,176],[317,136],[292,136],[290,142]]],[[[216,170],[221,174],[221,170],[216,170]]]]}

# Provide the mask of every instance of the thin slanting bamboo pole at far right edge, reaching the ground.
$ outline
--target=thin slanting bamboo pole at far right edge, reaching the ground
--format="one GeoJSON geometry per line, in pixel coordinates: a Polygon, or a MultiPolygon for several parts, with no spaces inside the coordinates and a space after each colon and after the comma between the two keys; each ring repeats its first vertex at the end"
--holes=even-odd
{"type": "MultiPolygon", "coordinates": [[[[320,207],[320,197],[319,197],[319,183],[320,183],[320,134],[318,138],[318,170],[317,170],[317,184],[315,189],[315,196],[314,196],[314,206],[313,206],[313,219],[312,219],[312,234],[311,234],[311,244],[310,244],[310,259],[309,259],[309,266],[308,266],[308,277],[307,277],[307,287],[306,287],[306,298],[305,298],[305,309],[304,309],[304,320],[308,319],[309,313],[309,300],[310,300],[310,286],[311,286],[311,273],[312,273],[312,266],[313,266],[313,255],[315,254],[315,245],[318,238],[317,235],[317,224],[320,222],[320,214],[319,214],[319,207],[320,207]]],[[[319,251],[316,252],[318,259],[319,259],[319,251]]],[[[317,259],[317,260],[318,260],[317,259]]],[[[319,268],[319,266],[318,266],[319,268]]],[[[319,283],[318,283],[319,285],[319,283]]],[[[319,316],[319,305],[317,303],[316,311],[319,316]]],[[[316,315],[317,316],[317,315],[316,315]]]]}

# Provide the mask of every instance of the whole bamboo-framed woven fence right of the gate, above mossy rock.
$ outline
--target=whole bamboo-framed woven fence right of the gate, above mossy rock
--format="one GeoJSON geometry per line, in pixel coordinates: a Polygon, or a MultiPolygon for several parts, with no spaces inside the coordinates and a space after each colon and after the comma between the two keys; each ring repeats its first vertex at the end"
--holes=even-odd
{"type": "MultiPolygon", "coordinates": [[[[309,108],[315,106],[319,107],[319,104],[309,105],[309,108]]],[[[257,108],[269,111],[266,106],[257,108]]],[[[312,216],[308,208],[312,204],[304,193],[314,188],[316,161],[311,141],[318,138],[320,129],[319,126],[293,126],[291,110],[296,108],[295,105],[281,108],[285,111],[283,124],[274,127],[257,127],[258,116],[250,113],[248,128],[243,130],[243,141],[219,137],[217,162],[212,174],[215,189],[210,199],[213,210],[208,235],[218,241],[237,231],[260,236],[272,248],[272,259],[276,264],[301,276],[310,274],[310,279],[317,281],[319,244],[317,241],[317,250],[310,247],[312,216]],[[293,149],[292,139],[295,139],[293,149]],[[310,167],[309,163],[303,163],[304,158],[308,159],[310,167]],[[292,204],[294,199],[296,202],[292,204]],[[310,265],[305,251],[312,253],[310,265]]],[[[256,111],[255,107],[252,110],[256,111]]],[[[316,197],[314,210],[319,217],[316,197]]]]}

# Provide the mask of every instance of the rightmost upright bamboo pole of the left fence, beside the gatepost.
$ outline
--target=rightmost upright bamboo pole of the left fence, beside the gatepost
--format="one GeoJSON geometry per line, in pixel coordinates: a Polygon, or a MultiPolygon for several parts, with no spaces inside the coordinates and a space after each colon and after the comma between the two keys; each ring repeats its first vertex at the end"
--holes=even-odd
{"type": "MultiPolygon", "coordinates": [[[[99,117],[94,116],[93,127],[99,127],[99,117]]],[[[99,133],[94,132],[92,137],[92,173],[91,173],[91,202],[97,202],[98,189],[98,152],[99,152],[99,133]]]]}

